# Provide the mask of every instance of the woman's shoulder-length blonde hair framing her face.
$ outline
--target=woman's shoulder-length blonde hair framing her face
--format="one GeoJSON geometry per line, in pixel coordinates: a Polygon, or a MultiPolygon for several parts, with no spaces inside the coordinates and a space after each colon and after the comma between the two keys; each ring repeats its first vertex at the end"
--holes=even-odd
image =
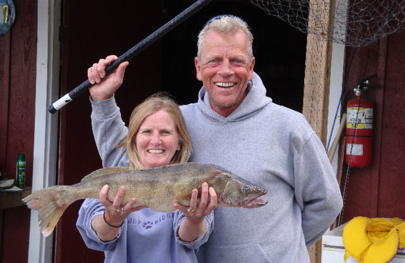
{"type": "Polygon", "coordinates": [[[144,100],[132,111],[130,122],[128,125],[128,134],[121,140],[121,143],[117,146],[117,148],[126,147],[131,168],[145,168],[140,160],[139,153],[136,148],[136,135],[142,121],[148,115],[153,114],[159,110],[164,110],[169,113],[174,123],[176,124],[176,130],[179,136],[180,150],[176,151],[170,164],[187,162],[190,158],[192,151],[191,138],[187,131],[186,123],[184,121],[183,115],[181,114],[179,105],[168,93],[159,92],[144,100]]]}

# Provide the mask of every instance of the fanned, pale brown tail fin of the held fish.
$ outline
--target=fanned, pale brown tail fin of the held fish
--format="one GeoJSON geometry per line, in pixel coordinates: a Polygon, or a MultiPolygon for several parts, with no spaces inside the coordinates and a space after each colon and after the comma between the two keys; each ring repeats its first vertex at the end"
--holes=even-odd
{"type": "Polygon", "coordinates": [[[71,186],[52,186],[38,190],[22,199],[28,208],[39,212],[39,229],[45,237],[52,233],[63,212],[76,200],[69,200],[67,193],[70,192],[70,188],[71,186]]]}

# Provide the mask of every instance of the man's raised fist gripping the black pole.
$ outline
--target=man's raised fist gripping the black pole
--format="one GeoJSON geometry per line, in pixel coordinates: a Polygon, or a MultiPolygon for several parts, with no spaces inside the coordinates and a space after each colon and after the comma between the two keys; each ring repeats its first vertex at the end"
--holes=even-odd
{"type": "Polygon", "coordinates": [[[94,101],[103,101],[111,98],[123,83],[125,68],[129,64],[127,61],[119,64],[119,66],[107,76],[105,73],[107,65],[116,59],[117,56],[110,55],[105,59],[100,59],[98,63],[94,63],[93,66],[87,70],[89,81],[94,84],[90,87],[90,94],[94,101]],[[101,82],[102,79],[103,81],[101,82]]]}

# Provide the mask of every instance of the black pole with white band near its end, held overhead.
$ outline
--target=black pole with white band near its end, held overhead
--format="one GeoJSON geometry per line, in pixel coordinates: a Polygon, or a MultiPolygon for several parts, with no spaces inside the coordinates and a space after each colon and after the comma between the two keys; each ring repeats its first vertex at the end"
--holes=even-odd
{"type": "MultiPolygon", "coordinates": [[[[109,64],[105,68],[105,72],[108,74],[114,69],[118,67],[119,64],[122,62],[128,61],[132,59],[135,55],[137,55],[139,52],[147,48],[149,45],[151,45],[153,42],[155,42],[157,39],[160,37],[164,36],[166,33],[168,33],[170,30],[178,26],[181,22],[186,20],[188,17],[193,15],[195,12],[206,6],[208,3],[210,3],[212,0],[198,0],[191,6],[189,6],[187,9],[185,9],[183,12],[178,14],[175,18],[161,26],[159,29],[154,31],[152,34],[150,34],[148,37],[143,39],[141,42],[139,42],[137,45],[132,47],[130,50],[128,50],[126,53],[123,55],[119,56],[117,60],[109,64]]],[[[68,94],[54,102],[53,104],[48,106],[48,111],[50,113],[55,113],[58,110],[60,110],[63,106],[71,102],[74,98],[79,96],[80,94],[84,93],[86,90],[91,87],[92,84],[90,81],[87,79],[85,82],[82,84],[76,86],[72,91],[70,91],[68,94]]]]}

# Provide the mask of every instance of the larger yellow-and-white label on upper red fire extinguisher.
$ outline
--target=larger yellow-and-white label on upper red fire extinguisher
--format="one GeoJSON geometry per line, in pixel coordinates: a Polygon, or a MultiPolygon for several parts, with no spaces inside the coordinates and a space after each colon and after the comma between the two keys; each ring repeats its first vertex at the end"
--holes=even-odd
{"type": "Polygon", "coordinates": [[[373,108],[347,108],[347,128],[372,129],[373,108]]]}

